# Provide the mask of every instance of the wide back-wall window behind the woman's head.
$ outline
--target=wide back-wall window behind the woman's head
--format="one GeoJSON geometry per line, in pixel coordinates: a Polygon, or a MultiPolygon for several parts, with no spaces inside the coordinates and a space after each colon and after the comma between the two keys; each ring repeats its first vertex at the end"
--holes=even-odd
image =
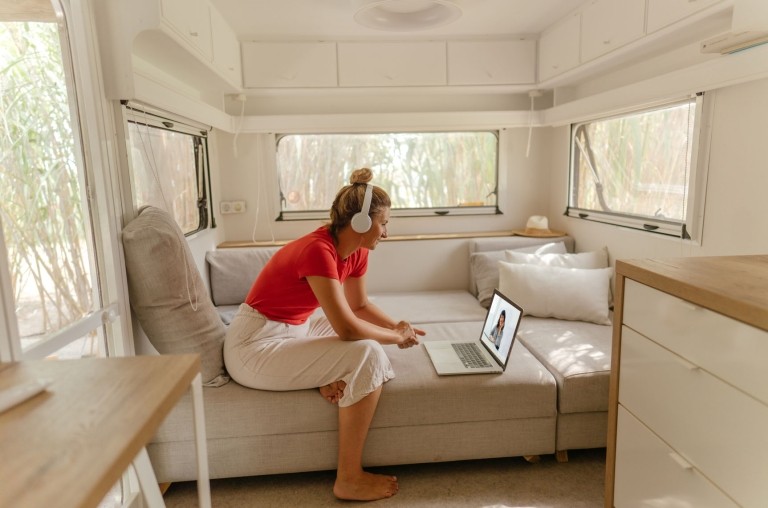
{"type": "Polygon", "coordinates": [[[498,133],[291,134],[278,138],[282,219],[327,217],[353,170],[371,168],[392,215],[497,213],[498,133]]]}

